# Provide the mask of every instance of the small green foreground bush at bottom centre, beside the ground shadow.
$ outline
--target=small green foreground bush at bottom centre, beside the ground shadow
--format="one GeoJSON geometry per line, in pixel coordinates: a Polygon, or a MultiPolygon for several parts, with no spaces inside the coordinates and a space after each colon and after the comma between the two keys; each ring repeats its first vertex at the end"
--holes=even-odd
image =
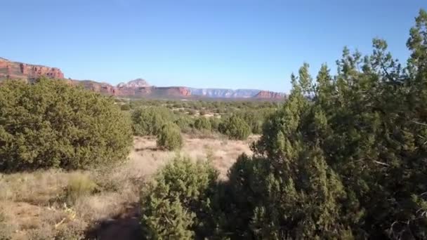
{"type": "Polygon", "coordinates": [[[143,191],[141,225],[146,238],[208,237],[217,177],[206,162],[178,157],[167,164],[143,191]]]}

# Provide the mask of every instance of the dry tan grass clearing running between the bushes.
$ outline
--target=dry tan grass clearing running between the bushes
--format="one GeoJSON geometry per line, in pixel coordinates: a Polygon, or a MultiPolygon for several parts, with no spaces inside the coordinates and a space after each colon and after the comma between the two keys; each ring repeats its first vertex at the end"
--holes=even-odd
{"type": "Polygon", "coordinates": [[[93,171],[0,174],[0,239],[138,239],[138,200],[143,184],[176,154],[211,163],[226,178],[247,141],[184,136],[184,147],[165,152],[155,138],[136,137],[129,159],[93,171]]]}

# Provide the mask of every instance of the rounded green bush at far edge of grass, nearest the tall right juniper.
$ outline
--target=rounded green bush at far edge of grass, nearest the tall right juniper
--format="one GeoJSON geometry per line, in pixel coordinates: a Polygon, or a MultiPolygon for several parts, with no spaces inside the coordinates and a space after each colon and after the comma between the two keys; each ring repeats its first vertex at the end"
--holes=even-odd
{"type": "Polygon", "coordinates": [[[218,126],[221,133],[228,135],[231,139],[245,140],[251,134],[251,127],[239,116],[230,116],[218,126]]]}

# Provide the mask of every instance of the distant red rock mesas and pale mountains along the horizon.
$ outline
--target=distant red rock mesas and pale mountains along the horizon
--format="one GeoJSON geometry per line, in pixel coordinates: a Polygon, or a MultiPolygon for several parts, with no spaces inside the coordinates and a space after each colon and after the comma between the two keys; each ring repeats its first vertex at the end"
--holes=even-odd
{"type": "MultiPolygon", "coordinates": [[[[63,72],[57,67],[31,65],[13,62],[0,58],[0,81],[4,79],[37,79],[46,76],[51,79],[65,79],[63,72]]],[[[262,91],[258,89],[227,89],[227,88],[189,88],[185,86],[150,86],[145,79],[135,79],[117,86],[91,80],[66,79],[70,84],[81,85],[90,91],[107,95],[129,98],[249,98],[264,100],[282,100],[284,93],[262,91]]]]}

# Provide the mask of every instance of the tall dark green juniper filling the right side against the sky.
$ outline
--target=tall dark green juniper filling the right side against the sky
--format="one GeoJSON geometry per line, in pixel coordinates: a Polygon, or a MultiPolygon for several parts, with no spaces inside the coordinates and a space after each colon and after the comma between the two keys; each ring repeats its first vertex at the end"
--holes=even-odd
{"type": "Polygon", "coordinates": [[[287,197],[268,200],[278,205],[259,208],[254,220],[287,226],[270,232],[292,238],[426,237],[419,213],[427,187],[414,184],[427,180],[424,13],[411,30],[407,69],[393,60],[386,41],[374,39],[372,55],[364,58],[344,48],[338,74],[330,76],[323,65],[317,85],[306,64],[292,76],[289,100],[266,121],[254,146],[280,170],[275,179],[289,186],[280,191],[287,197]],[[294,225],[298,218],[307,225],[294,225]],[[339,235],[318,234],[327,229],[339,235]]]}

